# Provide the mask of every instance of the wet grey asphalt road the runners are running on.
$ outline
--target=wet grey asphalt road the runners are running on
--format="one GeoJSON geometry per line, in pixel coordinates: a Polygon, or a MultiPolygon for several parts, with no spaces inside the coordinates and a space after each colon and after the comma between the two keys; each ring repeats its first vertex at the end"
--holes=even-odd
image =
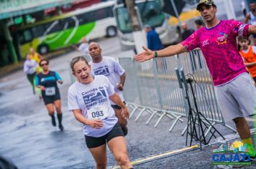
{"type": "MultiPolygon", "coordinates": [[[[131,51],[120,52],[117,38],[101,39],[100,44],[105,55],[133,55],[131,51]]],[[[18,168],[94,167],[93,158],[84,142],[82,125],[68,112],[67,107],[67,92],[70,86],[68,61],[78,55],[78,52],[70,52],[50,60],[50,69],[58,72],[64,81],[64,84],[59,85],[63,103],[63,132],[60,132],[58,127],[52,127],[45,105],[32,95],[32,89],[22,70],[0,79],[0,154],[11,159],[18,168]]],[[[186,126],[186,119],[183,118],[184,122],[178,122],[173,132],[168,132],[173,120],[164,117],[155,128],[156,117],[149,125],[145,125],[150,115],[144,113],[138,122],[134,122],[137,115],[138,112],[135,112],[129,120],[127,135],[129,158],[136,162],[134,168],[213,168],[211,146],[203,148],[202,151],[196,149],[138,163],[138,159],[150,155],[185,148],[186,137],[180,133],[186,126]]],[[[237,137],[226,127],[217,127],[221,134],[237,137]]],[[[108,168],[111,168],[116,162],[109,150],[107,153],[108,168]]]]}

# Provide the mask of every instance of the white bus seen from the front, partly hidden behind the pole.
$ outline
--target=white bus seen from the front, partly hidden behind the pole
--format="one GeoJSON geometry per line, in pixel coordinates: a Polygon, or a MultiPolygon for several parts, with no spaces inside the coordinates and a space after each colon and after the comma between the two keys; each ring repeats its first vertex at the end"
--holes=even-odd
{"type": "MultiPolygon", "coordinates": [[[[159,34],[163,45],[178,41],[179,35],[177,34],[176,27],[169,26],[168,17],[162,11],[163,1],[138,0],[135,1],[135,4],[140,11],[142,24],[147,24],[154,28],[159,34]]],[[[132,26],[129,24],[129,15],[124,4],[116,3],[114,14],[116,16],[117,33],[119,34],[122,49],[134,49],[132,26]]]]}

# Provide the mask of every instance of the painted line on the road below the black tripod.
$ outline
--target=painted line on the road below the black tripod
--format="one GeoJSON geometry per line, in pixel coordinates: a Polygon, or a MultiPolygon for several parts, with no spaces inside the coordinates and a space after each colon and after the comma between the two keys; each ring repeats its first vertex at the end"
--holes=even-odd
{"type": "MultiPolygon", "coordinates": [[[[193,145],[191,147],[188,147],[188,148],[181,148],[181,149],[178,149],[178,150],[172,150],[172,151],[169,151],[169,152],[166,152],[166,153],[162,153],[162,154],[159,154],[159,155],[152,155],[150,157],[146,157],[146,158],[142,158],[140,160],[134,160],[132,161],[132,165],[137,165],[137,164],[140,164],[140,163],[145,163],[147,161],[150,161],[150,160],[155,160],[157,158],[163,158],[165,156],[168,156],[168,155],[173,155],[175,153],[182,153],[182,152],[185,152],[186,150],[193,150],[193,149],[197,149],[199,148],[199,145],[193,145]]],[[[119,165],[116,165],[116,166],[113,166],[113,167],[110,167],[110,168],[120,168],[119,165]]]]}

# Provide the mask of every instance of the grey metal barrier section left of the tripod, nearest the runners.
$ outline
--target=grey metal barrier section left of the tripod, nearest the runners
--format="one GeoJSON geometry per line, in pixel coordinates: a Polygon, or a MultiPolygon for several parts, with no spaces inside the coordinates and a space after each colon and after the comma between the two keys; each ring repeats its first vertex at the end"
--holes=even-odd
{"type": "Polygon", "coordinates": [[[132,58],[119,58],[119,62],[127,74],[123,93],[133,109],[130,117],[139,112],[135,118],[137,121],[142,113],[150,113],[146,124],[157,117],[155,127],[163,117],[168,117],[174,120],[169,129],[171,131],[177,122],[183,122],[181,117],[186,116],[186,107],[184,97],[180,97],[183,94],[178,87],[175,70],[167,66],[175,65],[175,57],[168,59],[137,63],[132,58]]]}

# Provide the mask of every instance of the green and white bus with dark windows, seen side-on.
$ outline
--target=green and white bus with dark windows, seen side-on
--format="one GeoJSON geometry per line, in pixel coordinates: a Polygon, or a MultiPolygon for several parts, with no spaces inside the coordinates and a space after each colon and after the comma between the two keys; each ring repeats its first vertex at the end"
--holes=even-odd
{"type": "Polygon", "coordinates": [[[114,4],[115,1],[101,2],[17,28],[13,33],[22,57],[30,47],[40,54],[47,54],[52,50],[77,44],[82,37],[114,37],[114,4]]]}

